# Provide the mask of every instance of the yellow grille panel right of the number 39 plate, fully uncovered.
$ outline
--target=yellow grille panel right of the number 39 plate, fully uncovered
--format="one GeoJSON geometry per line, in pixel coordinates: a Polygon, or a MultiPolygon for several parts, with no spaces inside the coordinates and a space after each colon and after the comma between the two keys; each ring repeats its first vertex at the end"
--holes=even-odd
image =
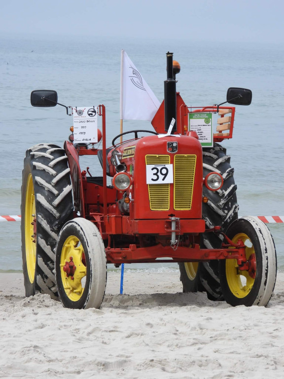
{"type": "Polygon", "coordinates": [[[196,155],[175,155],[174,209],[190,210],[194,185],[196,155]]]}

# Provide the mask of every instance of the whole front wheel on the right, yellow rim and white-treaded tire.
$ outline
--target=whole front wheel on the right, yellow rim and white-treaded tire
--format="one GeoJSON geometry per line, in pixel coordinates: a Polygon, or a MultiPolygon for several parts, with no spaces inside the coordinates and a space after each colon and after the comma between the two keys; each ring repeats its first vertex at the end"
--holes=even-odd
{"type": "Polygon", "coordinates": [[[275,245],[268,227],[247,216],[230,225],[227,236],[246,245],[248,271],[240,270],[235,259],[219,261],[220,284],[225,301],[235,305],[267,305],[276,281],[275,245]]]}

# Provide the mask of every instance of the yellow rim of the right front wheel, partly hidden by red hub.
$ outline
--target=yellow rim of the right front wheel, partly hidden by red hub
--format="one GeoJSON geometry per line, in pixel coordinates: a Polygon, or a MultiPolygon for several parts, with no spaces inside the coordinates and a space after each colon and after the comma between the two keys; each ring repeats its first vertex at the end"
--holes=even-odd
{"type": "MultiPolygon", "coordinates": [[[[247,260],[249,260],[249,257],[255,254],[252,242],[245,233],[236,234],[234,238],[232,238],[232,241],[237,243],[239,239],[246,245],[246,257],[247,260]]],[[[248,271],[239,270],[236,259],[226,260],[226,278],[231,292],[239,299],[248,296],[254,283],[254,278],[249,276],[248,271]]]]}

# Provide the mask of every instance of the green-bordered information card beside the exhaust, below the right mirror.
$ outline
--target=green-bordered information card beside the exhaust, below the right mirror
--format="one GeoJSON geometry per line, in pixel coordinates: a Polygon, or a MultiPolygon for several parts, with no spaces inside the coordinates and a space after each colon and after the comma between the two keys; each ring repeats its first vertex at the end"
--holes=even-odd
{"type": "Polygon", "coordinates": [[[190,113],[189,130],[198,134],[201,146],[209,148],[213,146],[212,113],[190,113]]]}

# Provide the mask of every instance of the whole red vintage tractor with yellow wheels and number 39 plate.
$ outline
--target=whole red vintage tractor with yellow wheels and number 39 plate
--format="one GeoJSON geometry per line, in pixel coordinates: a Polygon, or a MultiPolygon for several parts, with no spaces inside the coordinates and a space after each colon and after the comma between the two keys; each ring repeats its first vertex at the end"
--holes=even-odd
{"type": "MultiPolygon", "coordinates": [[[[21,205],[26,296],[42,292],[59,296],[65,307],[99,308],[106,263],[158,259],[178,263],[183,292],[206,291],[232,305],[269,302],[277,269],[273,238],[257,218],[238,219],[234,169],[218,144],[232,138],[235,107],[188,108],[176,92],[178,72],[167,53],[165,99],[153,131],[122,133],[106,148],[99,105],[102,149],[75,144],[72,135],[63,149],[44,143],[28,149],[21,205]],[[220,118],[206,147],[189,121],[198,116],[209,123],[212,114],[220,118]],[[103,175],[82,170],[81,155],[97,155],[103,175]]],[[[226,102],[249,105],[251,91],[229,88],[226,102]]],[[[59,104],[47,90],[33,91],[31,103],[59,104]]]]}

